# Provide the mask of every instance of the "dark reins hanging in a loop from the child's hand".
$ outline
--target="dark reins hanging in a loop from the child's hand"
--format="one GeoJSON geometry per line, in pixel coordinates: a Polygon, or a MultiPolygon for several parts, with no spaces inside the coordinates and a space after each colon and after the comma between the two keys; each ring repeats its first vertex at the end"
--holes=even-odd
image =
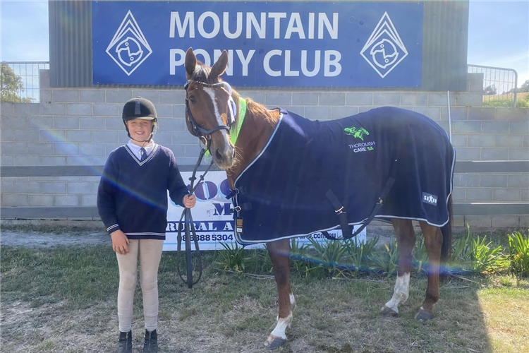
{"type": "MultiPolygon", "coordinates": [[[[209,164],[204,174],[202,174],[199,177],[199,181],[195,186],[193,184],[195,183],[195,180],[197,179],[195,177],[197,173],[197,169],[200,166],[200,163],[202,162],[202,157],[204,157],[206,150],[202,148],[200,150],[200,155],[198,156],[197,164],[195,164],[195,168],[193,169],[193,175],[189,178],[191,181],[191,190],[188,193],[188,196],[193,195],[195,193],[195,189],[197,189],[197,186],[204,181],[204,177],[206,176],[207,172],[209,172],[209,169],[213,165],[213,161],[209,164]]],[[[195,225],[193,223],[193,216],[191,215],[191,209],[190,208],[184,208],[182,215],[180,217],[180,221],[178,222],[178,236],[176,237],[176,240],[178,241],[177,245],[177,252],[176,252],[176,270],[178,271],[178,276],[180,279],[188,285],[188,288],[193,287],[193,285],[196,285],[197,282],[200,280],[200,277],[202,277],[202,256],[200,255],[200,249],[198,247],[198,239],[197,239],[197,232],[195,229],[195,225]],[[180,258],[181,258],[181,250],[182,250],[182,220],[184,220],[184,233],[186,234],[186,278],[183,277],[182,270],[180,268],[180,258]],[[193,227],[192,227],[193,225],[193,227]],[[191,233],[193,233],[193,241],[195,243],[195,253],[197,257],[197,267],[198,267],[198,277],[195,281],[193,281],[193,260],[192,260],[192,251],[191,251],[191,233]]]]}

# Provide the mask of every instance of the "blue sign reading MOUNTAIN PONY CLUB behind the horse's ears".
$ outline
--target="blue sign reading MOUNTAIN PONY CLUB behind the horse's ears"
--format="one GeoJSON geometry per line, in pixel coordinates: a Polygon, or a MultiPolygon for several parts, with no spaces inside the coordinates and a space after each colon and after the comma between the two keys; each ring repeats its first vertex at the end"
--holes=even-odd
{"type": "Polygon", "coordinates": [[[422,3],[93,1],[95,84],[183,85],[186,50],[250,87],[421,85],[422,3]]]}

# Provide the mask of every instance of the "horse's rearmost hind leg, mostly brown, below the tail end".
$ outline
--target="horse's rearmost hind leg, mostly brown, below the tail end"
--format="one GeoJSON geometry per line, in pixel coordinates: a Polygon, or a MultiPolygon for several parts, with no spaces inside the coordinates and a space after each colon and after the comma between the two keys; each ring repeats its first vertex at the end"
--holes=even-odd
{"type": "Polygon", "coordinates": [[[426,289],[425,301],[422,302],[415,319],[427,321],[434,318],[434,304],[439,300],[439,264],[441,261],[441,249],[443,235],[439,227],[420,222],[420,229],[425,237],[426,251],[428,252],[428,287],[426,289]]]}

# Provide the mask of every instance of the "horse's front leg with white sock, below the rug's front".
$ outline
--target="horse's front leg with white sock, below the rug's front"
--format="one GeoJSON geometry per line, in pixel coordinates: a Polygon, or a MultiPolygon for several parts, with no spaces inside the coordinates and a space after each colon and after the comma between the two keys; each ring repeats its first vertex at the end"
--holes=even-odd
{"type": "Polygon", "coordinates": [[[274,266],[274,277],[276,279],[277,294],[279,300],[279,315],[276,327],[270,333],[265,342],[269,349],[276,349],[286,342],[285,330],[292,322],[292,310],[296,301],[290,287],[290,265],[288,251],[290,243],[288,239],[273,241],[267,244],[268,254],[274,266]]]}

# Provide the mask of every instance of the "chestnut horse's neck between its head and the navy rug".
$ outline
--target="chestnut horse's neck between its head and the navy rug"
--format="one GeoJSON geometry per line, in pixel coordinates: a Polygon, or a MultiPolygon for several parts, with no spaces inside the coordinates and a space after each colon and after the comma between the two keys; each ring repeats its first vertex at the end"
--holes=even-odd
{"type": "MultiPolygon", "coordinates": [[[[238,109],[240,96],[235,90],[232,96],[238,109]]],[[[246,114],[235,144],[236,162],[231,169],[226,171],[232,189],[235,179],[265,148],[279,121],[278,110],[268,110],[265,105],[254,102],[251,98],[245,100],[246,114]]]]}

